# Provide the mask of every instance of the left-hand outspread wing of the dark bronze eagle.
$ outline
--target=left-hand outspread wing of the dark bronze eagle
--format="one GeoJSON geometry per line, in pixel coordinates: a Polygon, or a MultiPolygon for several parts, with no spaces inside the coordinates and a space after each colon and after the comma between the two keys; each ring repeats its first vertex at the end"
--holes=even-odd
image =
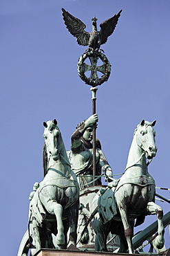
{"type": "Polygon", "coordinates": [[[70,33],[76,37],[76,42],[81,46],[87,46],[89,42],[89,33],[85,31],[85,24],[80,19],[70,15],[65,9],[61,9],[63,19],[65,21],[66,28],[70,31],[70,33]]]}

